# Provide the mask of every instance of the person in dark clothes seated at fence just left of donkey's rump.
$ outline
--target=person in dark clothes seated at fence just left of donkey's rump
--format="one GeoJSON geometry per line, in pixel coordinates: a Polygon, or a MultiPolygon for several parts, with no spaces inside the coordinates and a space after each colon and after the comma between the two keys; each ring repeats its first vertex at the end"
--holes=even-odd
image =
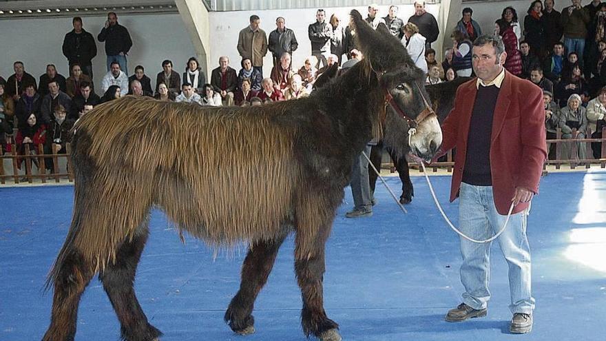
{"type": "MultiPolygon", "coordinates": [[[[44,154],[55,154],[54,148],[56,148],[56,154],[65,154],[65,145],[72,140],[70,130],[74,126],[74,120],[67,118],[67,111],[61,104],[54,107],[53,116],[46,132],[44,154]]],[[[44,162],[46,169],[54,169],[52,158],[45,158],[44,162]]]]}

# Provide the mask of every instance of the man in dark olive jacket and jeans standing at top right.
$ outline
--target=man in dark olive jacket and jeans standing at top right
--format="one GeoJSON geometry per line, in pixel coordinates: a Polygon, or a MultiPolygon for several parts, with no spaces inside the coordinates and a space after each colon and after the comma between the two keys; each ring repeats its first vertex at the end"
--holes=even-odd
{"type": "Polygon", "coordinates": [[[581,7],[581,0],[572,0],[572,6],[564,8],[561,23],[564,30],[564,47],[566,52],[576,52],[581,63],[585,51],[587,25],[591,21],[589,10],[581,7]]]}

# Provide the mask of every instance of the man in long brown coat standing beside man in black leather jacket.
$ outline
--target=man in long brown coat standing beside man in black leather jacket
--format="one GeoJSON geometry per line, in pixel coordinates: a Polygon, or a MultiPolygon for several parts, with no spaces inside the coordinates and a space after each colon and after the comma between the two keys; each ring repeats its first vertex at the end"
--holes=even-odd
{"type": "Polygon", "coordinates": [[[253,68],[263,76],[263,57],[267,54],[267,35],[264,30],[259,28],[261,19],[258,16],[251,15],[250,22],[251,24],[243,28],[238,36],[238,53],[242,59],[250,59],[253,68]]]}

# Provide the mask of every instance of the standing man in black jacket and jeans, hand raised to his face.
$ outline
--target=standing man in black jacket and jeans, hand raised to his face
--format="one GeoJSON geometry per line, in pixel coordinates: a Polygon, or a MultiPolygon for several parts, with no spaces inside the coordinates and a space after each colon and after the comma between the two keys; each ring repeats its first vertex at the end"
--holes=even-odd
{"type": "MultiPolygon", "coordinates": [[[[114,12],[107,13],[107,21],[97,36],[98,41],[105,41],[105,54],[107,55],[107,71],[112,63],[117,61],[120,70],[128,72],[126,56],[132,48],[132,40],[128,30],[118,23],[118,16],[114,12]]],[[[124,91],[125,89],[122,89],[124,91]]],[[[126,93],[126,92],[125,92],[126,93]]]]}

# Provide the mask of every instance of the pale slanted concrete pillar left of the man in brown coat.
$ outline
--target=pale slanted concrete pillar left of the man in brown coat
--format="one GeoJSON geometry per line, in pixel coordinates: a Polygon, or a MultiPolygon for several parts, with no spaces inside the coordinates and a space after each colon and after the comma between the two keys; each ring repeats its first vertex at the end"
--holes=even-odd
{"type": "Polygon", "coordinates": [[[203,1],[200,0],[175,0],[181,19],[185,24],[189,38],[191,39],[192,45],[194,45],[194,51],[198,61],[200,61],[200,68],[205,72],[207,81],[210,83],[212,70],[211,65],[218,64],[211,63],[209,60],[210,54],[207,53],[210,49],[210,20],[209,11],[204,6],[203,1]]]}

